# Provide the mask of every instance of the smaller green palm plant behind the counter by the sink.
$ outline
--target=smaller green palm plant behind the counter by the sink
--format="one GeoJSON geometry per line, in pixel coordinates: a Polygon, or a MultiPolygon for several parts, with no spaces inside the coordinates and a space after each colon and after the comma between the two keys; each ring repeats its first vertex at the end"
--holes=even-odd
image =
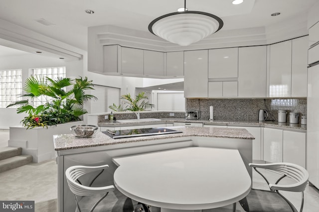
{"type": "Polygon", "coordinates": [[[140,92],[138,95],[135,96],[135,99],[132,98],[131,94],[125,94],[121,96],[121,99],[124,99],[123,103],[120,105],[113,105],[109,106],[110,109],[114,111],[145,111],[149,108],[154,108],[155,105],[151,104],[145,92],[140,92]]]}

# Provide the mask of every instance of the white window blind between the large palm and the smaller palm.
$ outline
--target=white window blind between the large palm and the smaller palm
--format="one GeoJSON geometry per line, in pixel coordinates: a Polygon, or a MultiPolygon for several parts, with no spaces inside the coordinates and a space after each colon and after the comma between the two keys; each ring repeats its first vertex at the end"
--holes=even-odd
{"type": "Polygon", "coordinates": [[[110,105],[120,104],[120,88],[94,85],[91,94],[98,100],[91,101],[91,113],[111,112],[110,105]]]}

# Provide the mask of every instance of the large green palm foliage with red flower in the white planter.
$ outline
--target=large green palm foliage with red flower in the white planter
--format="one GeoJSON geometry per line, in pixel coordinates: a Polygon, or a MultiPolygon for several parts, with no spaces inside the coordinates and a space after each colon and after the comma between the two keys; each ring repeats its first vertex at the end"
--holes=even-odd
{"type": "Polygon", "coordinates": [[[87,89],[94,89],[92,81],[89,81],[87,77],[84,79],[80,77],[74,80],[63,77],[53,80],[46,77],[45,80],[44,78],[31,76],[25,81],[24,94],[22,96],[31,99],[45,96],[47,100],[52,100],[34,107],[27,99],[14,102],[7,107],[17,105],[17,113],[25,112],[29,114],[21,121],[27,128],[77,121],[79,116],[87,113],[85,109],[79,106],[83,105],[87,100],[97,99],[93,95],[85,94],[87,89]],[[72,89],[66,89],[72,85],[72,89]]]}

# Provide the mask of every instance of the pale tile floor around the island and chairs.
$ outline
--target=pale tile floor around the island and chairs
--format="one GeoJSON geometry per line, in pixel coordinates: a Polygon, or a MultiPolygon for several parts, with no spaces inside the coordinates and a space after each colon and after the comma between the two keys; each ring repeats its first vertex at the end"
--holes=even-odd
{"type": "MultiPolygon", "coordinates": [[[[7,146],[9,132],[0,130],[0,147],[7,146]]],[[[266,177],[277,179],[278,175],[270,171],[264,171],[266,177]]],[[[55,160],[42,163],[30,163],[22,167],[0,173],[0,200],[34,200],[35,204],[50,202],[57,198],[57,165],[55,160]]],[[[290,179],[286,179],[287,182],[290,179]]],[[[253,172],[253,188],[267,189],[263,178],[253,172]]],[[[284,193],[289,200],[299,209],[300,194],[284,193]]],[[[37,209],[35,210],[38,211],[37,209]]],[[[56,208],[41,212],[55,212],[56,208]]],[[[205,210],[205,212],[231,212],[231,206],[224,209],[205,210]]],[[[237,204],[237,212],[244,212],[237,204]]],[[[305,191],[304,212],[319,212],[319,190],[307,186],[305,191]]]]}

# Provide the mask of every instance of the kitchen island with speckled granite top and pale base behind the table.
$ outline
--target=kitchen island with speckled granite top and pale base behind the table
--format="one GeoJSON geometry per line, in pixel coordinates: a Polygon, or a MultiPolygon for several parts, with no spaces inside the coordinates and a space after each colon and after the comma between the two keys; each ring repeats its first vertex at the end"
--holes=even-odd
{"type": "Polygon", "coordinates": [[[247,130],[202,127],[174,128],[174,130],[182,133],[125,139],[112,139],[101,132],[88,139],[79,139],[72,134],[55,135],[53,140],[58,163],[58,211],[69,212],[75,209],[74,196],[65,179],[65,170],[68,167],[109,164],[107,172],[103,173],[96,183],[114,184],[113,173],[117,168],[112,162],[114,157],[191,146],[238,149],[250,177],[252,176],[252,169],[248,163],[252,162],[254,137],[247,130]]]}

